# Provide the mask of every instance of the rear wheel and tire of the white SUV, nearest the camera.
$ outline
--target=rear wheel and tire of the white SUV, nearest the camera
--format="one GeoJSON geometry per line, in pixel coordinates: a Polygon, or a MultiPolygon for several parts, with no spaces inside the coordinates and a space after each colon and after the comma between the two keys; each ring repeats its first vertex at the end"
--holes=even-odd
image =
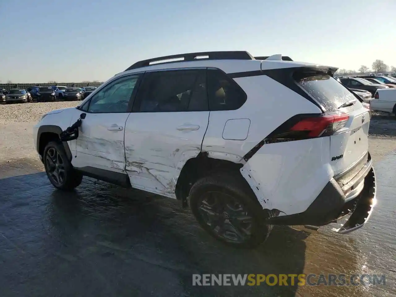
{"type": "Polygon", "coordinates": [[[257,247],[272,230],[272,225],[265,224],[265,212],[242,175],[215,173],[199,179],[190,190],[188,202],[200,226],[229,246],[257,247]]]}

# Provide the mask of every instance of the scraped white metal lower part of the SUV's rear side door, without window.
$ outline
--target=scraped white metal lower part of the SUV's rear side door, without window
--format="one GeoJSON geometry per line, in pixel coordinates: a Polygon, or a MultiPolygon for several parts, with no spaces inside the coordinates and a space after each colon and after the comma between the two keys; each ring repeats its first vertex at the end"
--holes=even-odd
{"type": "Polygon", "coordinates": [[[180,171],[201,151],[209,111],[136,112],[125,127],[126,171],[134,188],[171,198],[180,171]]]}

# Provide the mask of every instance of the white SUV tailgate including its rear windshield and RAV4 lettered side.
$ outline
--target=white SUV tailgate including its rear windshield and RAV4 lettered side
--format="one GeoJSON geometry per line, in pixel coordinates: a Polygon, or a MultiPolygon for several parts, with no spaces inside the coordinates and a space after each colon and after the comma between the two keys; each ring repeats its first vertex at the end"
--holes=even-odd
{"type": "Polygon", "coordinates": [[[327,74],[302,73],[297,83],[336,120],[331,127],[329,156],[334,175],[360,164],[368,152],[370,122],[369,110],[361,99],[327,74]]]}

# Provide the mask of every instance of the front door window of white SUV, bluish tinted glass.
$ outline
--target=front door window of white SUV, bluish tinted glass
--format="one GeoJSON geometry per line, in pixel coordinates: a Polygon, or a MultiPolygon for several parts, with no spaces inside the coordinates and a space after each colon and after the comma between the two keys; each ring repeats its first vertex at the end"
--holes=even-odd
{"type": "MultiPolygon", "coordinates": [[[[88,112],[128,112],[129,101],[140,74],[119,78],[102,88],[90,100],[88,112]]],[[[86,103],[83,105],[85,107],[86,103]]]]}

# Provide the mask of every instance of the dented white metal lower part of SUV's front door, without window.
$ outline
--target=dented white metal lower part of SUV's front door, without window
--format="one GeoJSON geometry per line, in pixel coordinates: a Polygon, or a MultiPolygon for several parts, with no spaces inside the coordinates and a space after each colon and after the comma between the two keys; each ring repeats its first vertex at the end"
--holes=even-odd
{"type": "Polygon", "coordinates": [[[87,113],[76,139],[76,168],[125,169],[124,127],[129,113],[87,113]]]}

